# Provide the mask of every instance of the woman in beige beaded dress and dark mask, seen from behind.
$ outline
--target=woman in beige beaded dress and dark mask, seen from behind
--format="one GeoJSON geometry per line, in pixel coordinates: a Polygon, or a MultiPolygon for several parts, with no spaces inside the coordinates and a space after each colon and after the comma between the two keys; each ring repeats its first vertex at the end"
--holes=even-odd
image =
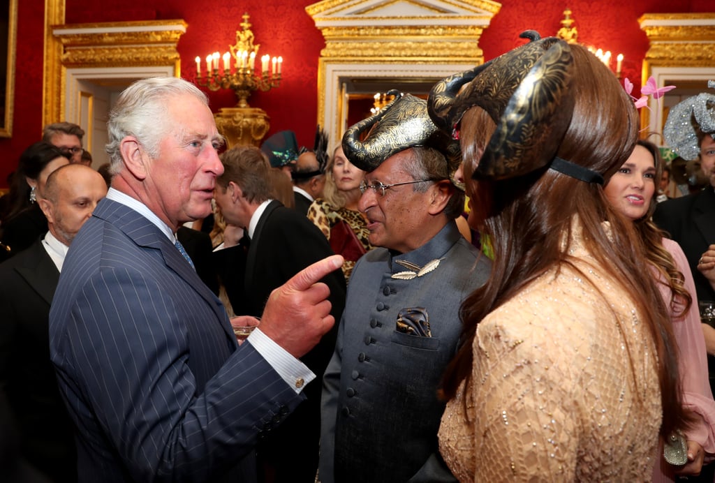
{"type": "Polygon", "coordinates": [[[430,94],[495,257],[463,304],[440,450],[462,481],[642,480],[687,418],[643,244],[603,194],[638,113],[586,49],[524,35],[430,94]]]}

